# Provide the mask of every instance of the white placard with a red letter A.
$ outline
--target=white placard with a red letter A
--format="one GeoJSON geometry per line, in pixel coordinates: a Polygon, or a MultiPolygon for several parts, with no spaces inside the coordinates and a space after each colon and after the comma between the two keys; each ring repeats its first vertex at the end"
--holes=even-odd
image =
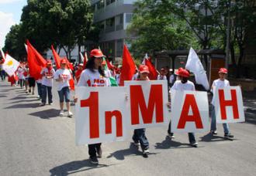
{"type": "Polygon", "coordinates": [[[206,92],[171,90],[171,132],[209,132],[206,92]]]}

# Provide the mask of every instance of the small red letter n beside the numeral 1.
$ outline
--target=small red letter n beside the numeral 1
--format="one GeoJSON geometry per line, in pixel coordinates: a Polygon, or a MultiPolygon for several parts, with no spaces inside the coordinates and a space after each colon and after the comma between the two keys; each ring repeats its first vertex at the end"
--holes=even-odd
{"type": "Polygon", "coordinates": [[[112,117],[116,117],[116,137],[123,136],[122,113],[119,110],[105,112],[106,134],[112,134],[112,117]]]}

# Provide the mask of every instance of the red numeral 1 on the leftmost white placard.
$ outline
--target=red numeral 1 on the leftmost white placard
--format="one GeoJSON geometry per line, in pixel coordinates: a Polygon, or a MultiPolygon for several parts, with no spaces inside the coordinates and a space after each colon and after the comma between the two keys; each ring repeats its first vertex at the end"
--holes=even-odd
{"type": "Polygon", "coordinates": [[[91,92],[87,100],[81,100],[81,107],[89,107],[90,138],[99,137],[99,93],[91,92]]]}

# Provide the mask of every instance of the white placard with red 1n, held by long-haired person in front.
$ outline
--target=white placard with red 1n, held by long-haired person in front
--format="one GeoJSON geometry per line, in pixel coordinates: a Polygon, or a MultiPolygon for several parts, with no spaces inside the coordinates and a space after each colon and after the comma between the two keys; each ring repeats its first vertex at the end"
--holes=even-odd
{"type": "Polygon", "coordinates": [[[76,144],[110,142],[126,137],[126,87],[78,86],[76,93],[76,144]]]}

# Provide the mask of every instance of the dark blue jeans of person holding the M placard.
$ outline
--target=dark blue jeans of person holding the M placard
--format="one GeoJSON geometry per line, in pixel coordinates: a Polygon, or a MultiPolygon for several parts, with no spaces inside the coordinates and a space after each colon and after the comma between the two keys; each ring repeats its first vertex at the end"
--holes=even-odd
{"type": "Polygon", "coordinates": [[[142,150],[147,150],[149,148],[149,143],[147,140],[147,137],[145,135],[145,128],[136,129],[133,132],[133,140],[135,143],[138,143],[140,141],[140,146],[142,150]]]}

